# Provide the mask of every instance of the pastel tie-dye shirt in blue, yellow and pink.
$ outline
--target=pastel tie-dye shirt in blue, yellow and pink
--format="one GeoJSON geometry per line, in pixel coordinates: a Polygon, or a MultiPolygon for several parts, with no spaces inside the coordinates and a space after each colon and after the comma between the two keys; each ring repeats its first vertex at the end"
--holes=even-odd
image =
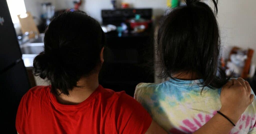
{"type": "MultiPolygon", "coordinates": [[[[169,133],[193,133],[221,108],[221,89],[198,85],[200,80],[173,80],[161,84],[140,83],[134,98],[169,133]],[[201,92],[202,90],[202,92],[201,92]]],[[[255,96],[254,96],[255,98],[255,96]]],[[[256,100],[256,99],[254,99],[256,100]]],[[[256,134],[256,101],[242,114],[230,134],[256,134]]]]}

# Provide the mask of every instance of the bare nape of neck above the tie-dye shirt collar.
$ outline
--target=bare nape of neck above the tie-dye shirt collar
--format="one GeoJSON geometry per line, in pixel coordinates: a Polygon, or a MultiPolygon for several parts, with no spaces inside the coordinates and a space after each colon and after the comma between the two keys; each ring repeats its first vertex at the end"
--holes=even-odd
{"type": "Polygon", "coordinates": [[[181,80],[200,79],[200,76],[195,72],[181,72],[181,73],[174,74],[172,77],[176,79],[181,79],[181,80]]]}

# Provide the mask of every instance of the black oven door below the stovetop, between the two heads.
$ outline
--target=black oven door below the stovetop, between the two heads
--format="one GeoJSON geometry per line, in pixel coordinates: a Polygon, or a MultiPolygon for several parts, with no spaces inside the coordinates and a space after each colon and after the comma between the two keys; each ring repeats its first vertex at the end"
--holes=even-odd
{"type": "Polygon", "coordinates": [[[106,37],[100,84],[133,97],[138,83],[154,82],[153,41],[150,36],[106,37]]]}

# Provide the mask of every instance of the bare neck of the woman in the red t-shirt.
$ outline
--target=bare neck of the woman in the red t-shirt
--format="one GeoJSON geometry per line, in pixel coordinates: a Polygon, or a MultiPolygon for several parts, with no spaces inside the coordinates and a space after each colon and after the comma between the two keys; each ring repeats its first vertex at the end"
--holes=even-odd
{"type": "Polygon", "coordinates": [[[69,95],[60,94],[56,99],[61,104],[75,105],[86,100],[99,86],[98,74],[83,77],[77,82],[78,87],[74,87],[69,95]]]}

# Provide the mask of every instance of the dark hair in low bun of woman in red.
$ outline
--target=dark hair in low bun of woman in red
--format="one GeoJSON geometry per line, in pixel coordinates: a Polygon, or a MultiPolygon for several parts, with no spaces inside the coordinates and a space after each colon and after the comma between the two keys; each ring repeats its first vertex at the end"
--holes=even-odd
{"type": "Polygon", "coordinates": [[[49,80],[51,92],[65,95],[100,65],[105,35],[100,24],[82,11],[64,12],[49,24],[44,51],[34,59],[34,74],[49,80]]]}

